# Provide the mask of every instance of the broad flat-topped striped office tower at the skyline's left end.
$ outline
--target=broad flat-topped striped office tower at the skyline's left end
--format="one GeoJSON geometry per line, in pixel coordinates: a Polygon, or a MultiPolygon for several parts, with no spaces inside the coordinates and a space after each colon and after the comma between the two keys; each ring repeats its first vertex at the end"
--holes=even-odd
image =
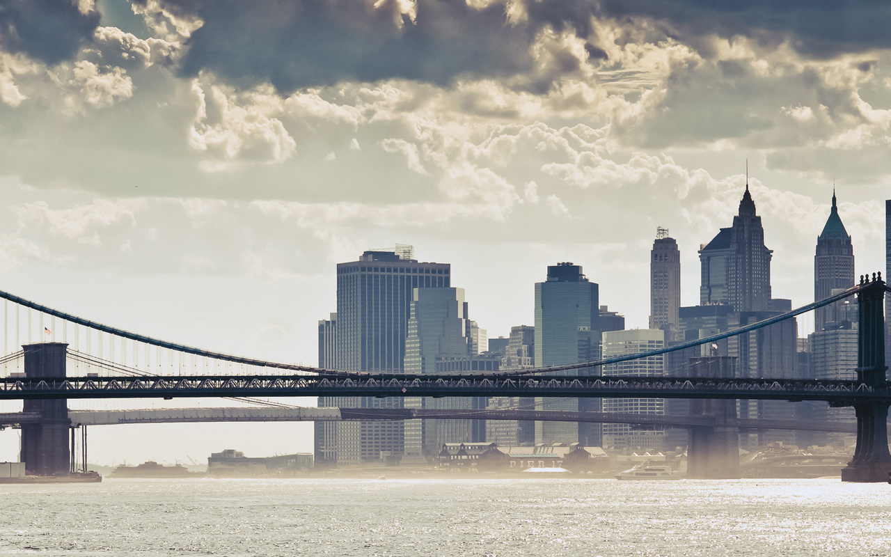
{"type": "MultiPolygon", "coordinates": [[[[368,250],[337,266],[337,313],[319,322],[319,366],[402,372],[416,288],[450,286],[447,263],[420,263],[411,246],[368,250]]],[[[402,407],[401,398],[319,397],[319,406],[402,407]]],[[[316,422],[315,462],[344,466],[402,455],[402,422],[316,422]]]]}

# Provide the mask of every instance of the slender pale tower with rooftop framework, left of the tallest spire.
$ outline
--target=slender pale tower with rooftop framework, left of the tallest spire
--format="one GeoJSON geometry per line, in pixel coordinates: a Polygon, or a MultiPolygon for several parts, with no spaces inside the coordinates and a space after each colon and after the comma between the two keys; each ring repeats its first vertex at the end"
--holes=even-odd
{"type": "Polygon", "coordinates": [[[674,340],[680,309],[681,251],[668,229],[659,227],[650,251],[650,329],[666,330],[666,340],[674,340]]]}

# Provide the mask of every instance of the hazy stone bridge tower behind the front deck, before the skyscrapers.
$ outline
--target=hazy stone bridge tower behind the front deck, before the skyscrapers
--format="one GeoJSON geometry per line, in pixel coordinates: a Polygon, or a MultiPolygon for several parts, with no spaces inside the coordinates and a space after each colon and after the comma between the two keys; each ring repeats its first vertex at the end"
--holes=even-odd
{"type": "MultiPolygon", "coordinates": [[[[732,378],[736,358],[710,356],[690,358],[692,377],[732,378]]],[[[687,478],[737,479],[740,477],[740,430],[722,425],[736,422],[736,401],[693,399],[690,414],[715,419],[713,426],[690,430],[687,445],[687,478]]]]}

